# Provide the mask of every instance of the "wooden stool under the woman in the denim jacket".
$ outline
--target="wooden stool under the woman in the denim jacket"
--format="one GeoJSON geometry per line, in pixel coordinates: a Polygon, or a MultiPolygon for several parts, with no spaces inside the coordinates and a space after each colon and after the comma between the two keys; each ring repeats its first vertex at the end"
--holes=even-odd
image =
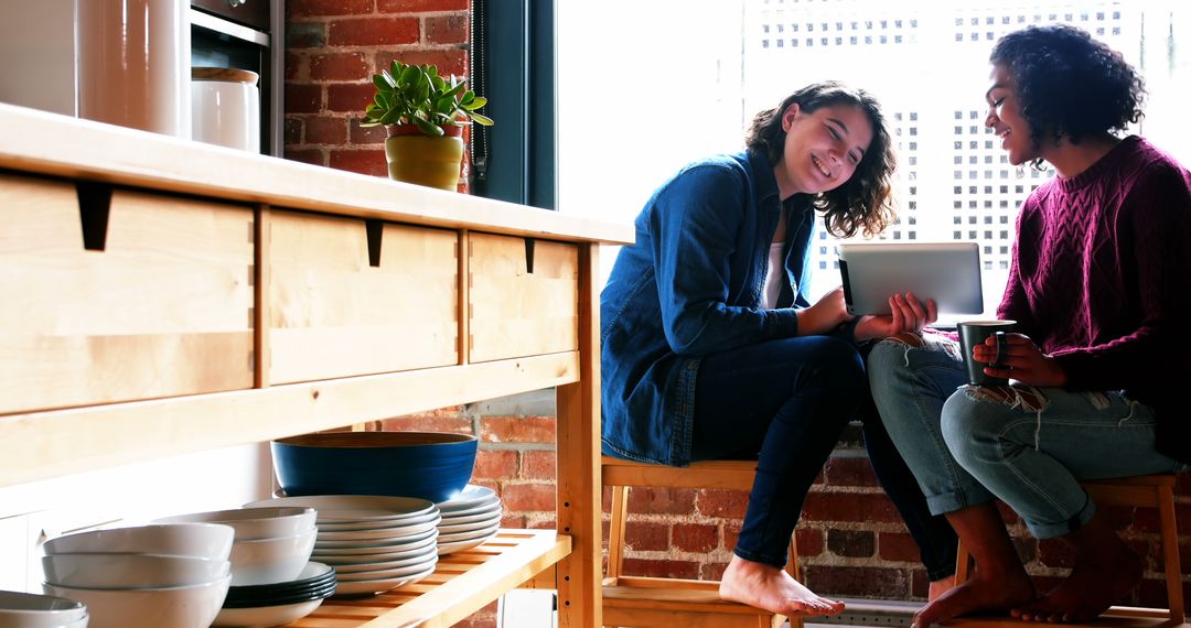
{"type": "MultiPolygon", "coordinates": [[[[681,489],[753,488],[756,460],[709,460],[691,466],[665,466],[621,460],[601,460],[604,485],[612,486],[612,522],[607,540],[607,577],[604,578],[604,624],[623,627],[773,628],[785,617],[719,598],[719,582],[622,576],[624,527],[631,486],[681,489]]],[[[786,571],[799,578],[794,538],[790,538],[786,571]]],[[[800,628],[800,617],[791,617],[800,628]]]]}

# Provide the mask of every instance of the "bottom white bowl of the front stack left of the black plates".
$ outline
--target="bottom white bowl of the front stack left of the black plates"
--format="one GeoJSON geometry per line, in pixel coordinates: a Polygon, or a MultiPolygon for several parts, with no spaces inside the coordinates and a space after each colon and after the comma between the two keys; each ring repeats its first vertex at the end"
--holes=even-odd
{"type": "Polygon", "coordinates": [[[87,604],[89,628],[207,628],[223,607],[231,576],[216,582],[164,589],[79,589],[42,584],[49,595],[87,604]]]}

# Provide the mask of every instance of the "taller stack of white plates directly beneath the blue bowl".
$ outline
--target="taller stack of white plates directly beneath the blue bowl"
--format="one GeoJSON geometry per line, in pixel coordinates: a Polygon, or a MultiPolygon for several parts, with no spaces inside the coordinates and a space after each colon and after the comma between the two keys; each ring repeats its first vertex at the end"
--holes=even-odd
{"type": "Polygon", "coordinates": [[[412,497],[312,495],[254,502],[318,511],[312,560],[335,567],[336,596],[373,595],[430,576],[438,561],[438,508],[412,497]]]}

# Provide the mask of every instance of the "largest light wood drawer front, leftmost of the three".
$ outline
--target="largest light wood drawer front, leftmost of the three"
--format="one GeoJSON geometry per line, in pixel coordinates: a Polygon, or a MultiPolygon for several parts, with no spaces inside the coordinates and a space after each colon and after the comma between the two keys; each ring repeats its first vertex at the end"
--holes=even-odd
{"type": "Polygon", "coordinates": [[[252,212],[0,175],[0,413],[252,387],[252,212]]]}

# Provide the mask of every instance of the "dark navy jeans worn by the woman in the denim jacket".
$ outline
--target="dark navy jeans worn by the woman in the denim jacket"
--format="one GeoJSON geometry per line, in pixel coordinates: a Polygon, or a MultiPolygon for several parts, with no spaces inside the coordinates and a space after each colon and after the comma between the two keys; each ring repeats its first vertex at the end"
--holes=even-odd
{"type": "Polygon", "coordinates": [[[757,460],[737,555],[774,566],[786,563],[806,494],[859,409],[878,479],[918,542],[930,578],[954,571],[955,534],[942,517],[931,516],[909,469],[873,420],[867,388],[861,354],[835,338],[771,340],[704,358],[696,383],[692,458],[757,460]]]}

